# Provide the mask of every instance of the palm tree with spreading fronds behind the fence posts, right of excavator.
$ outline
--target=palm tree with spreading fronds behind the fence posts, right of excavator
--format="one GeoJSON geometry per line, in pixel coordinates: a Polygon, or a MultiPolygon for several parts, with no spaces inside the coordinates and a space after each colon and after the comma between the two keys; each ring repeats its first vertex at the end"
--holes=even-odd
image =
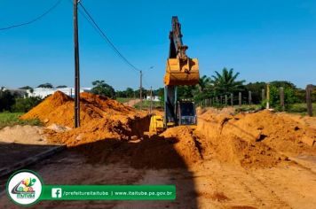
{"type": "Polygon", "coordinates": [[[214,81],[211,81],[214,85],[214,89],[217,94],[230,94],[233,92],[241,91],[243,89],[243,83],[245,80],[236,81],[240,73],[233,74],[233,68],[227,70],[224,68],[222,74],[217,71],[216,75],[212,75],[214,81]]]}

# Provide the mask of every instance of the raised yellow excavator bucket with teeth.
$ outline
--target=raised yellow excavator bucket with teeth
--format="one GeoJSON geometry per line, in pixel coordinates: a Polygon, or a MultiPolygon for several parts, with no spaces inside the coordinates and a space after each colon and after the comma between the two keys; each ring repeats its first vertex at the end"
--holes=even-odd
{"type": "Polygon", "coordinates": [[[199,62],[197,58],[169,58],[167,60],[164,84],[166,86],[195,85],[199,83],[199,62]]]}

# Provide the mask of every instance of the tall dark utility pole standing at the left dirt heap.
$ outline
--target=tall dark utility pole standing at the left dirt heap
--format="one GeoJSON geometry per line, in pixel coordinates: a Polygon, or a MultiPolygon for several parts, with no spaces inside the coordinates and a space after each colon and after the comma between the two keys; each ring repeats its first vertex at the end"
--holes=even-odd
{"type": "Polygon", "coordinates": [[[75,43],[75,128],[80,127],[80,74],[78,43],[78,0],[74,0],[74,43],[75,43]]]}

